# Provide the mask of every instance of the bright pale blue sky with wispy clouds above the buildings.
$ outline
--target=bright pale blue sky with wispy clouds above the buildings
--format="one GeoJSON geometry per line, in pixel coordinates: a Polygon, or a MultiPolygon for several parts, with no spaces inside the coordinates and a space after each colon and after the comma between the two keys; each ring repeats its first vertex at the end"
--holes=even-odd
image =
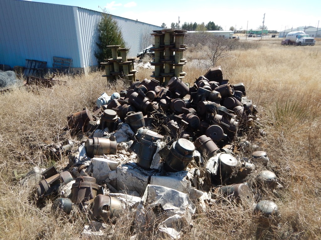
{"type": "MultiPolygon", "coordinates": [[[[253,0],[160,0],[160,1],[110,1],[110,0],[32,0],[34,2],[54,3],[78,6],[102,12],[106,9],[110,14],[134,19],[160,26],[163,22],[170,27],[171,22],[197,22],[205,24],[213,21],[224,30],[231,26],[236,29],[256,29],[264,25],[269,30],[284,30],[299,26],[317,27],[321,20],[321,1],[253,1],[253,0]],[[303,6],[305,5],[305,6],[303,6]]],[[[321,28],[321,21],[319,24],[321,28]]]]}

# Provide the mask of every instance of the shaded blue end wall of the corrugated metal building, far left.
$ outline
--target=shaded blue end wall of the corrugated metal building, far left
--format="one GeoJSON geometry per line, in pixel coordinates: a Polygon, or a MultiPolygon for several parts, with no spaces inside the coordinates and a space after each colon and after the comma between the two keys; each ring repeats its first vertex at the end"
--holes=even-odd
{"type": "Polygon", "coordinates": [[[81,67],[73,7],[16,0],[0,5],[1,64],[24,66],[34,59],[52,67],[52,57],[62,57],[81,67]]]}

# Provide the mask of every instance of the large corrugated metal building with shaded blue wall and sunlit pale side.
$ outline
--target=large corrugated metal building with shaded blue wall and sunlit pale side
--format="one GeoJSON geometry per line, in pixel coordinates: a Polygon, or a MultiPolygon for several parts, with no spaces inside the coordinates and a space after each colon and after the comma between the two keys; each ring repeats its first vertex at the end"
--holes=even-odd
{"type": "MultiPolygon", "coordinates": [[[[0,64],[24,66],[26,59],[46,61],[53,57],[72,59],[72,68],[85,72],[97,67],[98,23],[102,13],[75,6],[1,0],[0,64]]],[[[159,26],[118,16],[129,57],[136,57],[145,46],[146,36],[159,26]]],[[[110,56],[106,56],[110,57],[110,56]]]]}

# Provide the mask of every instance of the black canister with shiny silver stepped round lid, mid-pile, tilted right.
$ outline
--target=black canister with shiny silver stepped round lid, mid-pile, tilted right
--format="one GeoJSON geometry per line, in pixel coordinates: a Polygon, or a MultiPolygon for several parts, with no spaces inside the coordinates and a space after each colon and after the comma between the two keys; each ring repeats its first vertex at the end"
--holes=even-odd
{"type": "Polygon", "coordinates": [[[170,147],[165,159],[164,168],[167,172],[185,171],[188,164],[194,159],[195,146],[187,139],[180,138],[170,147]]]}

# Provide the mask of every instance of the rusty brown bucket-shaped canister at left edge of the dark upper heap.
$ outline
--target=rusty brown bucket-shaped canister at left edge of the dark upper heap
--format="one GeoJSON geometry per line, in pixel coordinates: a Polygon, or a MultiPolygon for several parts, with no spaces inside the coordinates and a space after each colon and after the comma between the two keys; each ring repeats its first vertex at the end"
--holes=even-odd
{"type": "Polygon", "coordinates": [[[75,131],[84,131],[89,121],[92,121],[91,112],[88,109],[73,113],[68,117],[68,126],[75,131]]]}

